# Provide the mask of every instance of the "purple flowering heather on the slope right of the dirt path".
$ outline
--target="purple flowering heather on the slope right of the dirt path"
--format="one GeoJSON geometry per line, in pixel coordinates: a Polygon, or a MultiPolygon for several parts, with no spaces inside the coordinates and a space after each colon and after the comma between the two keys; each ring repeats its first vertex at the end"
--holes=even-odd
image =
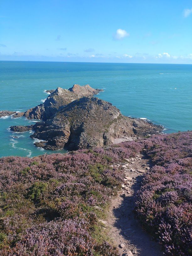
{"type": "Polygon", "coordinates": [[[137,193],[136,215],[167,256],[192,255],[192,132],[140,142],[155,165],[137,193]]]}

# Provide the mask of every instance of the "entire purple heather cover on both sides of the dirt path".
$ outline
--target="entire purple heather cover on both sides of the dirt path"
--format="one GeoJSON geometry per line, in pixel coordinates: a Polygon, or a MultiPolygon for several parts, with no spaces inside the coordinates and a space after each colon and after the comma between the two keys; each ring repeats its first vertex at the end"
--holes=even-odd
{"type": "Polygon", "coordinates": [[[0,256],[118,256],[98,218],[123,180],[111,164],[138,152],[154,166],[136,216],[166,256],[192,255],[192,132],[69,154],[0,159],[0,256]],[[99,206],[99,207],[98,207],[99,206]]]}

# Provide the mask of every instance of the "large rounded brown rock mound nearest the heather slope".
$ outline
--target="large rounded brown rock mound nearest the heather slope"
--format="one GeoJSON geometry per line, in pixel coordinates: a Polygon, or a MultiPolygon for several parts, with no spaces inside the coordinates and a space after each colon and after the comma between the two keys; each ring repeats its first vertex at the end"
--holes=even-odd
{"type": "Polygon", "coordinates": [[[83,97],[64,106],[50,120],[36,123],[33,130],[32,138],[46,141],[36,146],[76,150],[109,145],[115,138],[155,134],[162,127],[125,117],[109,102],[83,97]]]}

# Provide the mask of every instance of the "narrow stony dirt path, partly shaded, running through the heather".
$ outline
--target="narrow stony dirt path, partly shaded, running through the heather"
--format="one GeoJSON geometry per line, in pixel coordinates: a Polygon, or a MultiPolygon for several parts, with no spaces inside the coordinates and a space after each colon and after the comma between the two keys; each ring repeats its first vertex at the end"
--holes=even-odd
{"type": "Polygon", "coordinates": [[[149,160],[141,154],[122,164],[127,180],[122,184],[122,192],[112,200],[106,222],[109,236],[119,248],[121,255],[163,256],[159,245],[142,230],[133,213],[134,194],[141,186],[143,172],[150,166],[149,160]]]}

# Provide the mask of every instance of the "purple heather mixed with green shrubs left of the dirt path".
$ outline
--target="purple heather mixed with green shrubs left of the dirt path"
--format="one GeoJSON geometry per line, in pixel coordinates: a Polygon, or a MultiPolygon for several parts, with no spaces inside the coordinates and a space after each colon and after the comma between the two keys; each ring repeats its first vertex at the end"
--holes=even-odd
{"type": "Polygon", "coordinates": [[[120,188],[121,171],[110,165],[121,154],[134,152],[111,147],[1,158],[0,255],[118,256],[97,220],[120,188]]]}

